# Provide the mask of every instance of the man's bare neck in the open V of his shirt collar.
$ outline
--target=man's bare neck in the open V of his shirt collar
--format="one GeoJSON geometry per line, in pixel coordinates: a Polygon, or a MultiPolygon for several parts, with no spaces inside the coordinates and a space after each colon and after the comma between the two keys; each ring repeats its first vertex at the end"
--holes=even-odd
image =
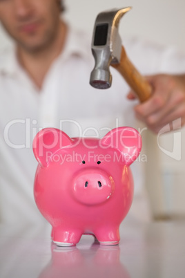
{"type": "Polygon", "coordinates": [[[64,22],[61,22],[59,32],[50,46],[33,53],[24,50],[20,46],[17,48],[18,59],[21,66],[25,69],[28,75],[30,75],[30,78],[39,90],[43,85],[44,78],[46,77],[52,62],[59,56],[64,48],[66,33],[67,26],[64,22]]]}

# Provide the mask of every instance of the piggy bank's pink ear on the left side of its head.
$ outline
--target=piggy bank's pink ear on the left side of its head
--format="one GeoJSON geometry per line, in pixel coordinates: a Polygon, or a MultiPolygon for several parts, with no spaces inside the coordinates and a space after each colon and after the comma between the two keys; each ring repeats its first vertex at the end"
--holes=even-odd
{"type": "Polygon", "coordinates": [[[37,161],[46,167],[59,149],[72,145],[72,139],[59,129],[42,129],[33,140],[32,148],[37,161]]]}

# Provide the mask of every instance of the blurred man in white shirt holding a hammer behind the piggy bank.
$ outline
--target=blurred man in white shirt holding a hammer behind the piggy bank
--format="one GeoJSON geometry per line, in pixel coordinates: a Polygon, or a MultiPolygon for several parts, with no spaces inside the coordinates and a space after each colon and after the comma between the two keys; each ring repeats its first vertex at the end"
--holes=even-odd
{"type": "MultiPolygon", "coordinates": [[[[69,136],[102,136],[117,125],[135,125],[132,110],[155,133],[177,118],[184,124],[185,62],[166,50],[146,53],[148,46],[128,40],[128,56],[146,55],[146,62],[136,62],[142,73],[170,68],[175,75],[148,77],[153,95],[135,106],[124,100],[128,86],[116,72],[112,88],[97,91],[88,84],[90,40],[60,19],[61,10],[59,0],[0,1],[1,23],[15,42],[0,58],[2,221],[39,219],[32,198],[37,165],[32,138],[39,129],[51,126],[69,136]]],[[[132,92],[128,99],[134,99],[132,92]]]]}

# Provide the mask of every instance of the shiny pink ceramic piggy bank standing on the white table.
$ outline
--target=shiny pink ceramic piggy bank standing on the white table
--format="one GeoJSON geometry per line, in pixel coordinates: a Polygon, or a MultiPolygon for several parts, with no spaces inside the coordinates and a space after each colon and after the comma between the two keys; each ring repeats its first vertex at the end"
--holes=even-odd
{"type": "Polygon", "coordinates": [[[37,133],[34,196],[54,243],[75,245],[82,234],[93,234],[101,245],[119,243],[119,225],[133,201],[129,165],[141,147],[141,136],[130,127],[101,139],[70,138],[52,128],[37,133]]]}

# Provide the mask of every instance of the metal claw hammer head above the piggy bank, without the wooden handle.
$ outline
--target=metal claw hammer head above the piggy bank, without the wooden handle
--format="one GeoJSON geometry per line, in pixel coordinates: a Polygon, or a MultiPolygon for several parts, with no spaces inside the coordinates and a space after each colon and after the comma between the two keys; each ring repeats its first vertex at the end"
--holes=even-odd
{"type": "Polygon", "coordinates": [[[130,9],[108,10],[97,15],[92,41],[95,68],[90,75],[90,85],[97,89],[108,89],[112,84],[109,66],[119,64],[121,57],[119,20],[130,9]]]}

